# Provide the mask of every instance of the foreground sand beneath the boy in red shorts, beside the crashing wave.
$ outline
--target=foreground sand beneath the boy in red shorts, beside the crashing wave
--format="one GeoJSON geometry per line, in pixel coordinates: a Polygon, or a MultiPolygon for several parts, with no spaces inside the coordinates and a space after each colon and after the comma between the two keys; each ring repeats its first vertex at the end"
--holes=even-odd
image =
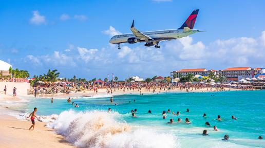
{"type": "Polygon", "coordinates": [[[74,147],[44,122],[36,121],[35,130],[29,131],[30,121],[19,121],[4,114],[0,120],[0,147],[74,147]]]}

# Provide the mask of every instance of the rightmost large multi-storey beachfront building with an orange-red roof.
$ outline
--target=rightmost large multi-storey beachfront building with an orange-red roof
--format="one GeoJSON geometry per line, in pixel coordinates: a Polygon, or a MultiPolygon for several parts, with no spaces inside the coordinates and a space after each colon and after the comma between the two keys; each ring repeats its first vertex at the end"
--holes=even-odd
{"type": "Polygon", "coordinates": [[[243,78],[253,78],[254,69],[251,67],[231,67],[221,70],[221,75],[230,81],[239,81],[243,78]]]}

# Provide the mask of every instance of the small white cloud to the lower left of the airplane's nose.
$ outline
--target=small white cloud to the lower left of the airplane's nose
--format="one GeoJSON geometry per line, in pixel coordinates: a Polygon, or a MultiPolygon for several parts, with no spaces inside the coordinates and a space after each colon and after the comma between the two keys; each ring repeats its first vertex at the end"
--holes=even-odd
{"type": "Polygon", "coordinates": [[[96,52],[98,49],[86,49],[82,47],[77,47],[80,58],[84,60],[86,63],[89,62],[90,60],[97,60],[96,57],[96,52]]]}

